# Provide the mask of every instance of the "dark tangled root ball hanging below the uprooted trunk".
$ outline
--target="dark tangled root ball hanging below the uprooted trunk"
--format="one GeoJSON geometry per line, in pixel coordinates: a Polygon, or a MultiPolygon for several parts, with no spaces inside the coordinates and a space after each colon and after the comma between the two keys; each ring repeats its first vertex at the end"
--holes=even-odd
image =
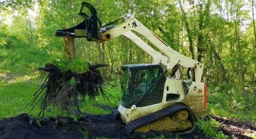
{"type": "MultiPolygon", "coordinates": [[[[48,72],[44,83],[35,92],[34,99],[27,106],[33,108],[39,103],[41,111],[39,115],[44,116],[48,106],[53,104],[53,108],[60,108],[62,111],[81,112],[79,106],[85,102],[85,98],[94,100],[100,93],[108,99],[102,89],[102,76],[95,72],[98,67],[107,66],[105,64],[90,65],[85,72],[61,71],[56,65],[47,63],[45,68],[38,68],[48,72]]],[[[82,113],[82,112],[81,112],[82,113]]]]}

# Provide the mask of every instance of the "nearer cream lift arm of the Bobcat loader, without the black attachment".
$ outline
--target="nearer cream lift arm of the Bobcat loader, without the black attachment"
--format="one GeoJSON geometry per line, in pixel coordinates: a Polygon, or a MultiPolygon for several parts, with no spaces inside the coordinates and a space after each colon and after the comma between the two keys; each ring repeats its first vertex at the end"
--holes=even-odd
{"type": "MultiPolygon", "coordinates": [[[[159,49],[167,57],[167,70],[170,71],[174,65],[180,64],[182,67],[191,67],[195,69],[195,82],[201,82],[203,74],[203,64],[193,60],[189,57],[181,55],[177,51],[173,50],[161,39],[159,39],[153,32],[146,28],[142,23],[140,23],[135,17],[131,17],[126,20],[124,23],[117,25],[99,34],[98,42],[102,43],[114,39],[120,35],[123,35],[130,31],[136,31],[145,37],[151,44],[159,49]]],[[[135,37],[138,37],[135,35],[135,37]]],[[[131,39],[132,40],[132,39],[131,39]]],[[[140,45],[139,45],[140,46],[140,45]]],[[[153,48],[152,48],[153,49],[153,48]]],[[[145,51],[145,50],[144,50],[145,51]]],[[[165,59],[159,60],[158,62],[162,63],[165,59]]]]}

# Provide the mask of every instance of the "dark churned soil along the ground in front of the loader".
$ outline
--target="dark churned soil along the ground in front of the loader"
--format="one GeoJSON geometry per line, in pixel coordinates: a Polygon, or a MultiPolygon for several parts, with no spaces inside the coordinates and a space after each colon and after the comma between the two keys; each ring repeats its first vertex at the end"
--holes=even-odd
{"type": "MultiPolygon", "coordinates": [[[[127,136],[124,131],[125,125],[121,119],[114,119],[112,114],[86,115],[86,118],[92,122],[87,122],[85,118],[79,118],[78,121],[75,121],[68,117],[34,119],[24,113],[13,118],[0,120],[0,139],[83,139],[83,134],[90,139],[96,137],[138,139],[161,135],[166,138],[176,138],[174,133],[157,131],[133,133],[127,136]]],[[[230,122],[226,127],[232,125],[233,123],[230,122]]],[[[233,133],[230,134],[228,132],[229,128],[226,129],[226,127],[223,127],[222,130],[231,138],[233,133]]],[[[253,126],[253,129],[255,129],[255,126],[253,126]]],[[[241,134],[235,134],[235,136],[244,138],[241,134]]],[[[198,130],[179,135],[179,137],[182,139],[210,139],[198,130]]]]}

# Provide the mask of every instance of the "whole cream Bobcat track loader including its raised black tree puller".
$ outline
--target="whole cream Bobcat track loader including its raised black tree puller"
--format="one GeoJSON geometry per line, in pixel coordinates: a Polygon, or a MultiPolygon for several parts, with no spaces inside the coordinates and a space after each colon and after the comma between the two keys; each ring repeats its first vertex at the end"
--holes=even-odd
{"type": "Polygon", "coordinates": [[[83,2],[79,15],[84,17],[82,23],[57,30],[56,36],[85,37],[87,41],[103,43],[123,35],[152,58],[149,64],[121,65],[121,104],[113,115],[123,119],[128,135],[150,130],[186,134],[196,129],[196,116],[204,115],[207,104],[207,87],[201,82],[202,63],[173,50],[131,14],[123,15],[125,21],[121,24],[101,27],[95,8],[83,2]],[[84,7],[90,10],[90,16],[82,12],[84,7]],[[187,76],[182,75],[181,68],[187,69],[187,76]],[[193,81],[189,75],[192,68],[193,81]],[[171,76],[166,76],[168,72],[172,72],[171,76]]]}

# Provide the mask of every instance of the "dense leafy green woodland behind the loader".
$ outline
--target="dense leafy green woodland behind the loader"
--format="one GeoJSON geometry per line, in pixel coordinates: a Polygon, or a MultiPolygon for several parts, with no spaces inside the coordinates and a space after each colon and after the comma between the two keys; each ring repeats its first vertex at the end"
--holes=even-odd
{"type": "MultiPolygon", "coordinates": [[[[0,49],[10,49],[8,51],[11,52],[12,46],[19,43],[17,46],[20,48],[39,48],[47,53],[46,57],[60,57],[63,52],[63,38],[55,37],[55,31],[63,25],[73,27],[83,20],[78,15],[82,1],[27,0],[19,4],[22,8],[15,6],[15,2],[0,2],[0,5],[5,4],[7,7],[2,10],[12,11],[0,13],[0,35],[3,36],[0,37],[0,49]]],[[[203,82],[209,88],[209,112],[230,118],[256,120],[256,107],[253,106],[253,89],[256,86],[256,34],[253,17],[255,1],[89,2],[97,9],[103,25],[119,19],[130,10],[170,47],[204,63],[203,82]],[[245,86],[249,88],[248,104],[245,103],[245,86]]],[[[124,19],[120,22],[122,21],[124,19]]],[[[75,48],[76,56],[87,63],[109,64],[102,72],[103,76],[117,85],[120,83],[117,78],[121,74],[120,65],[150,63],[151,60],[142,49],[122,36],[105,44],[75,39],[75,48]]],[[[0,60],[1,64],[8,62],[0,60]]],[[[4,75],[8,71],[1,69],[0,72],[4,75]]]]}

